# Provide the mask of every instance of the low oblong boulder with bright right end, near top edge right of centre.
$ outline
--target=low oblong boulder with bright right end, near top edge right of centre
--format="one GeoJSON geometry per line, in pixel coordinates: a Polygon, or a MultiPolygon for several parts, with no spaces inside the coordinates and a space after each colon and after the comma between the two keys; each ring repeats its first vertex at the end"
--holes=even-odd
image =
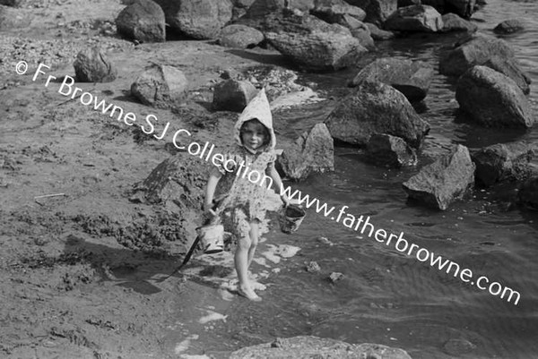
{"type": "Polygon", "coordinates": [[[443,30],[443,19],[433,7],[411,5],[399,8],[385,21],[386,30],[438,32],[443,30]]]}

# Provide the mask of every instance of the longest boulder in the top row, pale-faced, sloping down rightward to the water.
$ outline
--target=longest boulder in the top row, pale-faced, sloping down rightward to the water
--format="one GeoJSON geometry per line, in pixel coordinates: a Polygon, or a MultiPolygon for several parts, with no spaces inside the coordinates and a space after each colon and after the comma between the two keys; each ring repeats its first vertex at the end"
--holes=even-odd
{"type": "Polygon", "coordinates": [[[332,71],[351,64],[368,50],[350,30],[313,15],[273,14],[265,19],[265,38],[308,71],[332,71]]]}

